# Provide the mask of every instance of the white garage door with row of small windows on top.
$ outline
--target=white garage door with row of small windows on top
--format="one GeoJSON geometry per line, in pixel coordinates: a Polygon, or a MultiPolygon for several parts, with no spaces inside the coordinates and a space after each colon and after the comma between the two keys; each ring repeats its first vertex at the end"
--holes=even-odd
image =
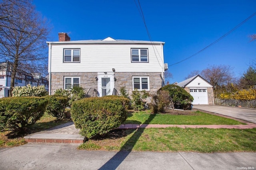
{"type": "Polygon", "coordinates": [[[194,101],[192,104],[208,104],[207,89],[190,89],[194,101]]]}

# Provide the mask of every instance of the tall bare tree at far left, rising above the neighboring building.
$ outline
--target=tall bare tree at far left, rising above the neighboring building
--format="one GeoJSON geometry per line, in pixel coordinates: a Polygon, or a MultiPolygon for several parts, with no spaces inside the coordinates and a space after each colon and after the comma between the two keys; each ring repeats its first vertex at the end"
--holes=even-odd
{"type": "Polygon", "coordinates": [[[0,62],[12,65],[10,95],[18,70],[32,73],[47,68],[48,33],[48,23],[36,12],[32,0],[0,3],[0,62]]]}

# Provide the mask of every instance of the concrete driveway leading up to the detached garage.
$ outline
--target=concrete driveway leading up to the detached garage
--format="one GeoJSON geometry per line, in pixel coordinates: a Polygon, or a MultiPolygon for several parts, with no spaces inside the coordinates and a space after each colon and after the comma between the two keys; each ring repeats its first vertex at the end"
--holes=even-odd
{"type": "Polygon", "coordinates": [[[252,123],[256,123],[256,109],[246,109],[241,107],[219,106],[219,105],[199,105],[193,106],[193,109],[218,113],[237,119],[242,119],[252,123]]]}

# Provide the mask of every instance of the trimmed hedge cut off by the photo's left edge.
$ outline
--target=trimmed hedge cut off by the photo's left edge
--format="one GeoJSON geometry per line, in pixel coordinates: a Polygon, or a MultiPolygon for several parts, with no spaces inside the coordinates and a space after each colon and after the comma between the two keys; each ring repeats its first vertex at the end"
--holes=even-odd
{"type": "Polygon", "coordinates": [[[47,101],[40,97],[11,97],[0,99],[0,131],[23,134],[36,123],[46,109],[47,101]]]}

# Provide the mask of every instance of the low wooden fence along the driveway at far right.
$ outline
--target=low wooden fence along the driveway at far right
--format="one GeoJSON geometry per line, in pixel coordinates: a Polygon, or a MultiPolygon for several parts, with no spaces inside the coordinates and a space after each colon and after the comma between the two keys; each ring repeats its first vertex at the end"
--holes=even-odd
{"type": "Polygon", "coordinates": [[[235,100],[235,99],[216,99],[215,104],[223,106],[242,106],[256,109],[256,100],[235,100]]]}

